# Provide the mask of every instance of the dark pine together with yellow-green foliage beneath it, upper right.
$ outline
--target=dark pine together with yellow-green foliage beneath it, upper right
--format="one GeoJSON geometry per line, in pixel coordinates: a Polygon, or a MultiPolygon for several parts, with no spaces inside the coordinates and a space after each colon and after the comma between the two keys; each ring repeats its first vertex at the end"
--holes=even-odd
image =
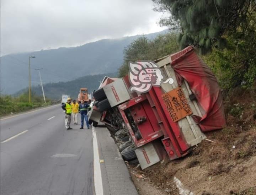
{"type": "Polygon", "coordinates": [[[180,48],[194,45],[220,86],[254,87],[256,78],[255,0],[153,0],[155,11],[168,12],[161,25],[180,26],[180,48]],[[212,52],[211,52],[212,51],[212,52]],[[204,56],[207,54],[206,56],[204,56]]]}

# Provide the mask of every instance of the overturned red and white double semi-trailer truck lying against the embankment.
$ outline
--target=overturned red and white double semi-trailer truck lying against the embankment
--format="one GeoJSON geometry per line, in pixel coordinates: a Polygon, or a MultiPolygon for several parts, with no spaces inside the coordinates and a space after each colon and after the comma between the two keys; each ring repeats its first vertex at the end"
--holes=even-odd
{"type": "Polygon", "coordinates": [[[94,126],[100,121],[107,126],[123,158],[139,161],[142,169],[185,156],[206,139],[204,132],[226,123],[217,80],[192,46],[155,63],[162,79],[173,82],[138,93],[131,92],[128,75],[105,77],[93,93],[96,102],[89,114],[94,126]]]}

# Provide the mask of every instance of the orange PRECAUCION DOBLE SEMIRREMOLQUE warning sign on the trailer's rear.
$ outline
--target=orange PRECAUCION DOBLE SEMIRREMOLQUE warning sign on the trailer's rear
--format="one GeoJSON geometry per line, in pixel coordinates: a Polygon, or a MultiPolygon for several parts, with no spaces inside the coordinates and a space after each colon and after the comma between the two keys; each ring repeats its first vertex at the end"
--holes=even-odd
{"type": "Polygon", "coordinates": [[[162,94],[162,98],[174,122],[192,114],[192,110],[181,87],[162,94]]]}

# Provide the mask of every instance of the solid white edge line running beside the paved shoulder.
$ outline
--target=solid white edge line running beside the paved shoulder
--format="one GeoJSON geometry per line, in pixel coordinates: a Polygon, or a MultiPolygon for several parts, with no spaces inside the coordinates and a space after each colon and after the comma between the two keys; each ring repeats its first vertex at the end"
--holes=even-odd
{"type": "Polygon", "coordinates": [[[96,195],[103,195],[103,185],[100,168],[100,157],[98,154],[98,143],[95,128],[92,127],[93,147],[94,147],[94,188],[96,195]]]}

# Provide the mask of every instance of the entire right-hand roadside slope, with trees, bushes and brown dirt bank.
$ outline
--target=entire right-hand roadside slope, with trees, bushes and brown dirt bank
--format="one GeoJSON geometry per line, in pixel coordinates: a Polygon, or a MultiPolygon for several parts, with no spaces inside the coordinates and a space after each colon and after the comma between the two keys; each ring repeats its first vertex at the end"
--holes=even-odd
{"type": "Polygon", "coordinates": [[[174,176],[195,194],[255,194],[256,2],[153,2],[155,11],[169,13],[160,24],[170,33],[153,40],[138,38],[128,45],[119,76],[128,73],[129,61],[156,60],[193,45],[217,77],[227,126],[206,133],[213,142],[203,141],[185,158],[143,171],[134,167],[132,173],[142,175],[162,194],[178,194],[174,176]]]}

